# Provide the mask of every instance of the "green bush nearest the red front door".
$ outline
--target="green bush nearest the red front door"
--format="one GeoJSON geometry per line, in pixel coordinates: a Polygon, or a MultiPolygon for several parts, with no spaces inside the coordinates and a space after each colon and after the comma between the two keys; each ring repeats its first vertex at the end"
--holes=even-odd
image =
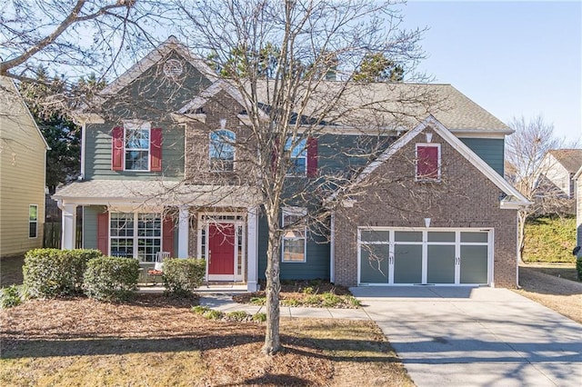
{"type": "Polygon", "coordinates": [[[203,282],[206,274],[206,261],[196,258],[164,261],[164,286],[166,293],[178,297],[191,295],[203,282]]]}

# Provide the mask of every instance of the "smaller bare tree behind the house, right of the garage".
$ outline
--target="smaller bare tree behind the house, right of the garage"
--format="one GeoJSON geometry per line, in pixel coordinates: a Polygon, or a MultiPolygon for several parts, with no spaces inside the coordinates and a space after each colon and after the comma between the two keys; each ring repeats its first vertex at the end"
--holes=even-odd
{"type": "Polygon", "coordinates": [[[514,117],[509,126],[516,132],[507,137],[507,179],[532,202],[518,211],[519,258],[523,260],[527,218],[533,214],[560,213],[567,205],[560,198],[559,188],[545,178],[553,167],[547,162],[547,153],[567,144],[556,137],[554,125],[541,115],[530,120],[514,117]]]}

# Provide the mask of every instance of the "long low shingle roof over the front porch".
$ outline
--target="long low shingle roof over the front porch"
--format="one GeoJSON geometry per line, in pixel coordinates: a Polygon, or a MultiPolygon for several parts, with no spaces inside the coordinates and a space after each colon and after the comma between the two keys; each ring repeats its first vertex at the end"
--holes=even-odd
{"type": "Polygon", "coordinates": [[[236,185],[198,185],[184,182],[137,180],[89,180],[56,191],[55,200],[72,203],[131,202],[147,205],[250,207],[256,201],[252,188],[236,185]]]}

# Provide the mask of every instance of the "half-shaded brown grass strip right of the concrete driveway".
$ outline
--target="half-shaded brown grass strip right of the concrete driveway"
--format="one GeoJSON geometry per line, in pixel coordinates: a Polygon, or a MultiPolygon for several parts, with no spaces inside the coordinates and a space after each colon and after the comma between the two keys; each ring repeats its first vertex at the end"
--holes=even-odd
{"type": "Polygon", "coordinates": [[[582,283],[544,273],[547,267],[519,266],[521,289],[516,292],[582,323],[582,283]]]}

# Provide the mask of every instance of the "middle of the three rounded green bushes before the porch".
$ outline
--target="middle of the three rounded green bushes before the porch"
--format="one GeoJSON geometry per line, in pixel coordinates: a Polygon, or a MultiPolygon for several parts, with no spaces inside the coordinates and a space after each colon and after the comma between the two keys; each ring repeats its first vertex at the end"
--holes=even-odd
{"type": "Polygon", "coordinates": [[[85,294],[101,301],[125,301],[134,295],[139,263],[132,258],[101,257],[87,263],[85,294]]]}

